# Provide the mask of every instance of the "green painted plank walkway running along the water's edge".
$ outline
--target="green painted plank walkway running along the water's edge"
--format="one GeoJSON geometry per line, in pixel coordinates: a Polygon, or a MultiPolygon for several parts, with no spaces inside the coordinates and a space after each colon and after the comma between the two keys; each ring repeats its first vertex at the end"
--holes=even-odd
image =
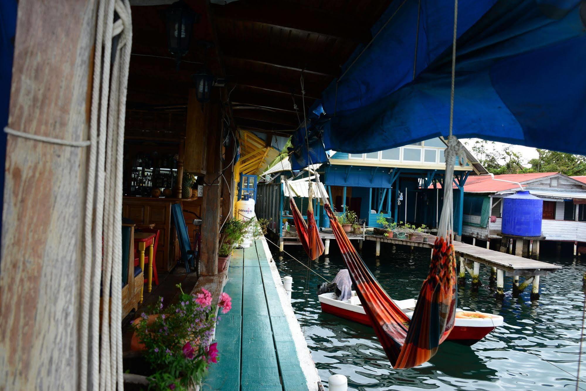
{"type": "Polygon", "coordinates": [[[224,292],[232,298],[232,310],[220,314],[219,363],[210,366],[203,390],[306,390],[260,240],[234,251],[224,292]]]}

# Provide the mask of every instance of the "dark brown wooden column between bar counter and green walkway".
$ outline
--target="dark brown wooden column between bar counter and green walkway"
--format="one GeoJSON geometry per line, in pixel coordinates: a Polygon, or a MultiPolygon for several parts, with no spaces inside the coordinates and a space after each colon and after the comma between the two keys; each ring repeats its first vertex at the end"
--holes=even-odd
{"type": "MultiPolygon", "coordinates": [[[[191,102],[191,100],[190,100],[191,102]]],[[[220,107],[219,103],[206,104],[207,113],[207,172],[202,202],[202,265],[203,276],[217,274],[218,242],[220,237],[220,195],[222,186],[218,178],[222,171],[220,161],[220,107]]],[[[199,108],[197,108],[199,110],[199,108]]],[[[194,109],[195,110],[195,109],[194,109]]],[[[188,108],[189,111],[189,108],[188,108]]]]}

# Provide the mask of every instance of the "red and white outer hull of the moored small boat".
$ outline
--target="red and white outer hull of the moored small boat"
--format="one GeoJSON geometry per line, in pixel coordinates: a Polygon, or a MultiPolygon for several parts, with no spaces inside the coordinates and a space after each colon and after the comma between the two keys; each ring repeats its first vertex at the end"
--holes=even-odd
{"type": "MultiPolygon", "coordinates": [[[[348,301],[335,300],[331,293],[319,295],[319,301],[323,312],[372,327],[372,322],[368,315],[366,315],[366,312],[364,312],[362,305],[352,304],[348,301]]],[[[471,312],[464,312],[466,314],[471,314],[471,312]]],[[[406,314],[411,317],[413,311],[407,310],[406,314]]],[[[483,314],[482,312],[476,312],[475,314],[489,316],[490,318],[456,317],[454,329],[452,329],[452,332],[448,335],[447,340],[471,346],[493,331],[496,326],[500,326],[503,323],[503,318],[499,315],[483,314]]]]}

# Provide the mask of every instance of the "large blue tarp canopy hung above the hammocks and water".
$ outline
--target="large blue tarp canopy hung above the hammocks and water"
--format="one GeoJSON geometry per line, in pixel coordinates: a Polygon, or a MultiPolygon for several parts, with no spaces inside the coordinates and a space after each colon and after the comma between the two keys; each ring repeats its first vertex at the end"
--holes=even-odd
{"type": "MultiPolygon", "coordinates": [[[[460,0],[454,135],[586,154],[585,25],[580,0],[460,0]]],[[[447,136],[453,31],[453,2],[393,2],[294,135],[293,169],[447,136]]]]}

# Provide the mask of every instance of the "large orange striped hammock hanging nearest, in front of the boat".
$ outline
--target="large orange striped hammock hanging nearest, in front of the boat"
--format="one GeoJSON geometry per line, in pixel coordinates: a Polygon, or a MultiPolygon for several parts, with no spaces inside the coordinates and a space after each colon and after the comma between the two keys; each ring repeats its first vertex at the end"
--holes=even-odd
{"type": "Polygon", "coordinates": [[[413,368],[428,361],[454,327],[456,274],[454,246],[438,237],[430,271],[411,320],[391,300],[364,264],[333,214],[324,205],[352,283],[374,331],[394,368],[413,368]]]}

